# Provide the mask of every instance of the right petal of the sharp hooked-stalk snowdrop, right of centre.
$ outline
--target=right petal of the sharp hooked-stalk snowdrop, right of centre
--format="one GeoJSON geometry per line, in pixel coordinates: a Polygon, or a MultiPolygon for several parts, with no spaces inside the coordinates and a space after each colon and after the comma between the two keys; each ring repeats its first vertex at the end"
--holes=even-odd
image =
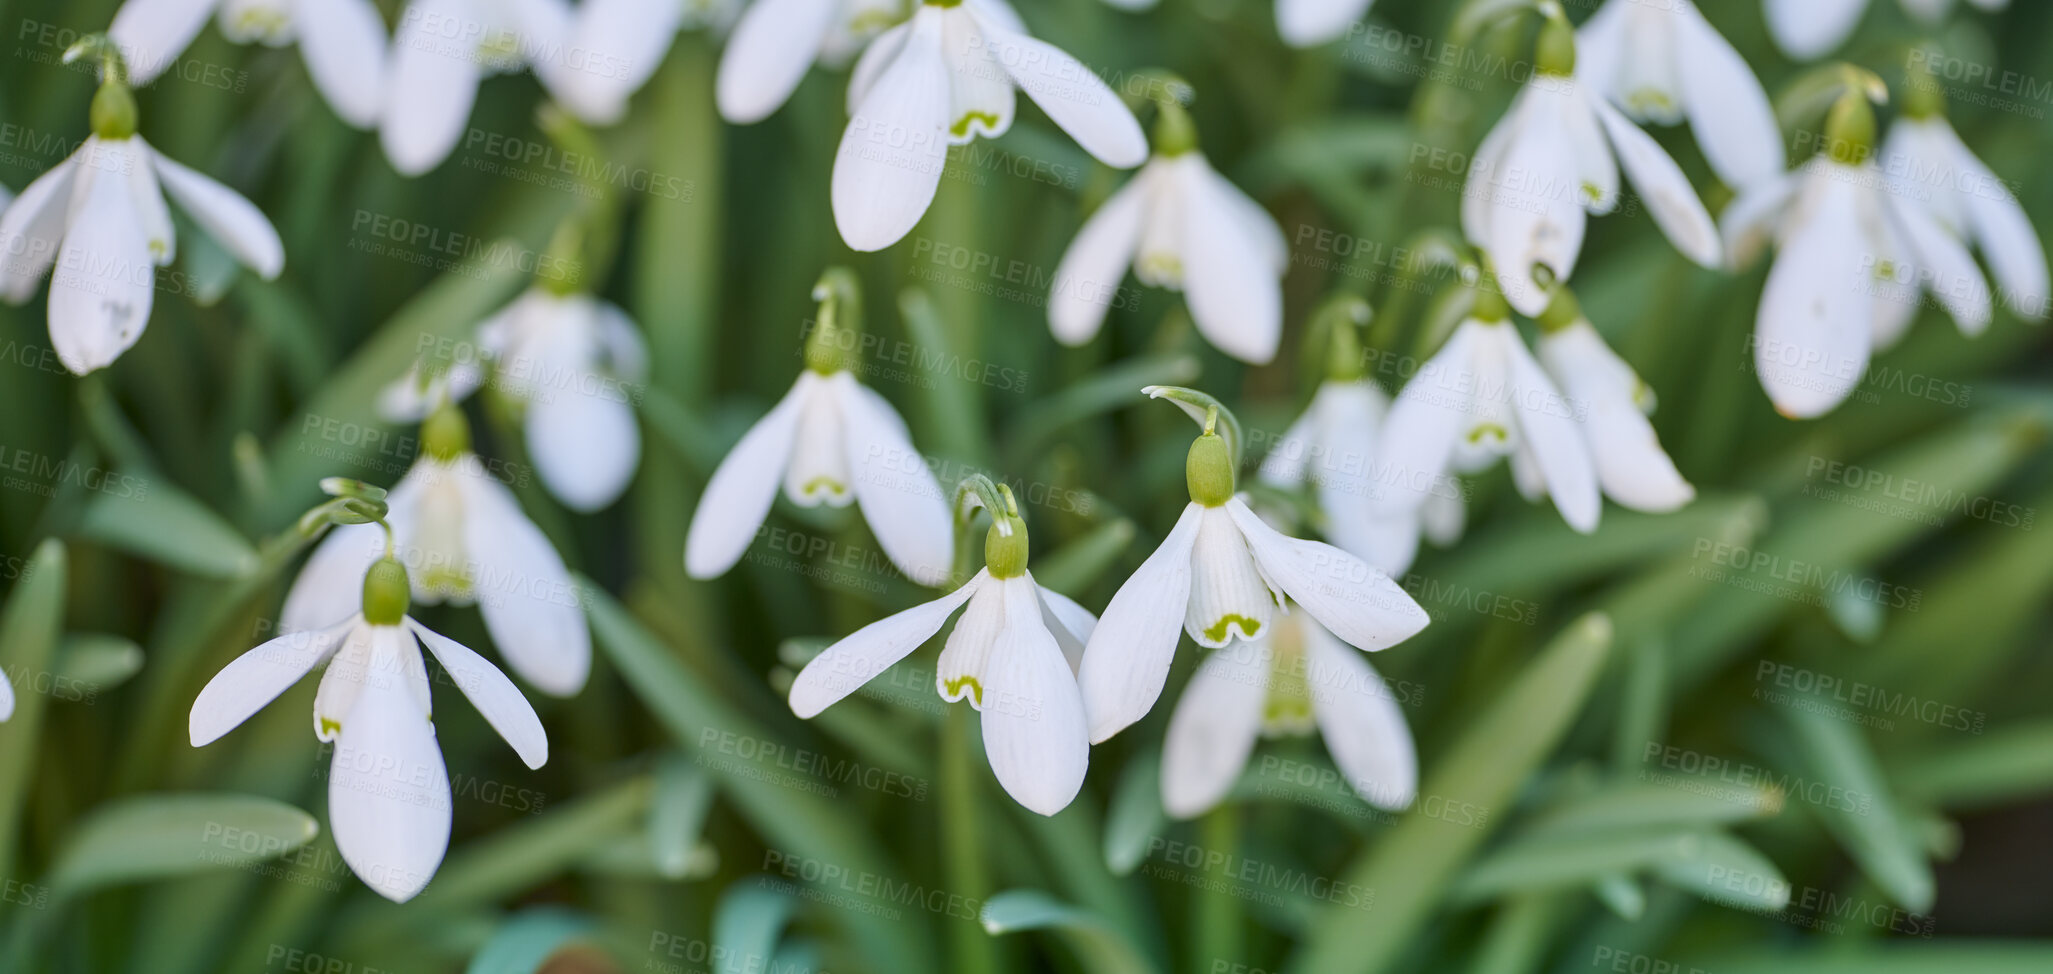
{"type": "Polygon", "coordinates": [[[1240,497],[1226,501],[1226,512],[1248,538],[1248,551],[1269,584],[1349,645],[1386,649],[1429,623],[1425,608],[1367,561],[1332,545],[1285,536],[1240,497]]]}

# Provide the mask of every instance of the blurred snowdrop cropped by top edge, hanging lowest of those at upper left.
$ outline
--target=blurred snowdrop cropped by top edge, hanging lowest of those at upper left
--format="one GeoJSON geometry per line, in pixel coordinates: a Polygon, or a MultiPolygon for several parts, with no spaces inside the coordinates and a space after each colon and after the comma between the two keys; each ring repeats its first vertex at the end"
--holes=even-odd
{"type": "MultiPolygon", "coordinates": [[[[392,35],[392,76],[378,136],[400,175],[441,164],[470,121],[478,82],[530,64],[563,84],[571,12],[563,0],[411,0],[392,35]]],[[[597,68],[591,68],[597,70],[597,68]]]]}

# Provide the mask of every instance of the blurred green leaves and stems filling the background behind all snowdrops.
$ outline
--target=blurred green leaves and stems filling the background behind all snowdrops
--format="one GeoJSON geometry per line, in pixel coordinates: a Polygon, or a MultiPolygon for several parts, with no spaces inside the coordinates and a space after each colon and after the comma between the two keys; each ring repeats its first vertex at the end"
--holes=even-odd
{"type": "MultiPolygon", "coordinates": [[[[18,191],[86,134],[92,78],[57,58],[113,6],[0,4],[0,183],[18,191]]],[[[181,232],[150,331],[84,380],[47,351],[41,296],[0,310],[0,664],[21,697],[0,723],[0,970],[2053,970],[2053,545],[2037,524],[2053,386],[2043,327],[2008,310],[1979,339],[1924,310],[1854,399],[1794,423],[1749,366],[1764,269],[1698,269],[1644,214],[1595,220],[1575,284],[1659,390],[1655,423],[1700,497],[1614,505],[1575,536],[1503,469],[1476,483],[1468,536],[1404,579],[1435,625],[1376,658],[1408,688],[1421,750],[1404,816],[1353,797],[1316,740],[1287,740],[1258,748],[1234,801],[1166,822],[1156,760],[1183,651],[1156,713],[1094,748],[1084,793],[1043,820],[996,787],[969,711],[918,676],[790,717],[795,664],[924,600],[866,557],[852,512],[780,503],[768,524],[799,551],[766,534],[727,577],[684,577],[704,477],[801,368],[827,265],[864,282],[864,380],[944,483],[1029,487],[1037,577],[1090,608],[1185,499],[1189,425],[1139,386],[1199,386],[1281,432],[1320,370],[1304,319],[1347,290],[1378,306],[1396,392],[1451,290],[1417,290],[1396,257],[1456,226],[1433,150],[1472,152],[1515,90],[1505,70],[1427,60],[1460,6],[1382,0],[1367,31],[1293,51],[1267,2],[1022,4],[1115,88],[1144,68],[1195,84],[1203,150],[1291,240],[1267,368],[1209,349],[1178,296],[1131,279],[1098,341],[1051,341],[1053,267],[1127,177],[1024,101],[1004,138],[953,152],[903,242],[854,255],[827,208],[844,74],[727,125],[719,41],[684,33],[632,115],[595,132],[632,173],[604,189],[558,168],[534,78],[493,78],[450,160],[402,179],[294,49],[209,27],[140,92],[142,136],[250,195],[285,273],[234,277],[181,232]],[[413,429],[380,423],[374,392],[517,294],[593,193],[618,203],[618,240],[581,271],[651,345],[643,466],[597,516],[534,479],[515,491],[591,579],[597,668],[577,699],[530,695],[552,738],[534,773],[443,699],[454,840],[394,906],[326,834],[308,840],[326,801],[312,682],[205,750],[185,713],[267,637],[316,479],[390,485],[411,462],[413,429]],[[1776,567],[1745,567],[1757,555],[1776,567]],[[1776,577],[1790,563],[1852,584],[1776,577]]],[[[1702,6],[1770,95],[1803,74],[1757,2],[1702,6]]],[[[1839,55],[1895,90],[1922,39],[2030,82],[1959,82],[1950,117],[2053,226],[2053,99],[2030,92],[2053,90],[2053,6],[1963,6],[1940,31],[1872,6],[1839,55]]],[[[1493,31],[1476,49],[1499,62],[1458,62],[1529,43],[1529,25],[1493,31]]],[[[1712,212],[1729,201],[1686,129],[1655,134],[1712,212]]],[[[505,411],[470,409],[480,454],[526,464],[505,411]]],[[[421,616],[497,658],[476,612],[421,616]]]]}

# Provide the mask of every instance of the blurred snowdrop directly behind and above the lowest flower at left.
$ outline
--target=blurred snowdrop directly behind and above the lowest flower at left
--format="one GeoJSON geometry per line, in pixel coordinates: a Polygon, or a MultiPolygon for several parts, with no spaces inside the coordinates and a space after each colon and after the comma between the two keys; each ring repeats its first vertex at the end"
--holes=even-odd
{"type": "MultiPolygon", "coordinates": [[[[470,452],[454,405],[421,427],[421,458],[386,499],[398,557],[413,565],[413,598],[476,604],[485,631],[524,680],[571,697],[591,672],[591,633],[563,557],[470,452]]],[[[349,584],[386,551],[378,526],[335,528],[285,594],[281,631],[328,629],[353,610],[349,584]]]]}

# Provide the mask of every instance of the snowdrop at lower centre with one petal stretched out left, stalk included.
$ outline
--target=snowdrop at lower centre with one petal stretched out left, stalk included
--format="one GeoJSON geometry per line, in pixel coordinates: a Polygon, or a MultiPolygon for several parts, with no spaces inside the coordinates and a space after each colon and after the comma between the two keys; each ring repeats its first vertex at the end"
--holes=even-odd
{"type": "Polygon", "coordinates": [[[942,701],[967,699],[983,715],[992,775],[1014,801],[1053,816],[1076,799],[1090,764],[1076,660],[1096,619],[1026,571],[1026,522],[1012,491],[992,489],[990,481],[979,491],[992,512],[983,569],[934,602],[829,645],[792,680],[790,711],[815,717],[909,655],[961,608],[934,668],[934,690],[942,701]]]}

